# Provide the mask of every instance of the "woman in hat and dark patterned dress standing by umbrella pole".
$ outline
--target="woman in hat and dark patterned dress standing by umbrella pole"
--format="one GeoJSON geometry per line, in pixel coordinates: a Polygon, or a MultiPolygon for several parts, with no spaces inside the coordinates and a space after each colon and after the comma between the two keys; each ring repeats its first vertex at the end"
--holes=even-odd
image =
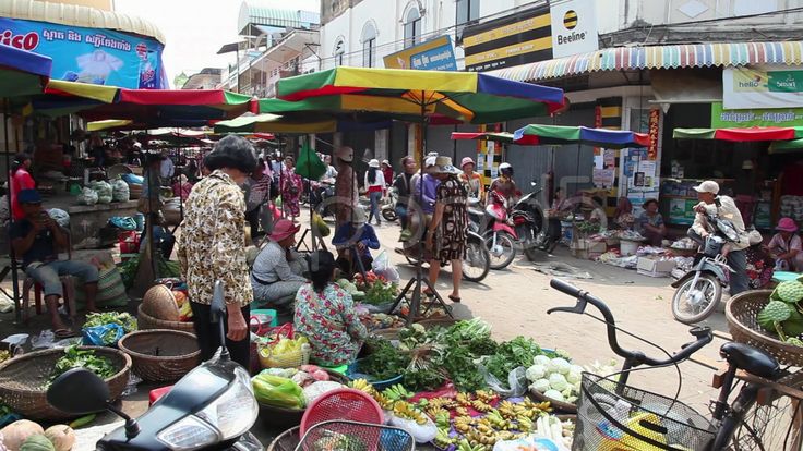
{"type": "MultiPolygon", "coordinates": [[[[434,287],[441,266],[452,263],[452,302],[460,302],[463,258],[466,256],[468,239],[468,193],[460,182],[460,170],[452,166],[448,157],[438,157],[429,169],[440,184],[435,191],[435,212],[427,231],[427,248],[433,251],[430,261],[430,284],[434,287]]],[[[427,293],[427,291],[424,291],[427,293]]]]}

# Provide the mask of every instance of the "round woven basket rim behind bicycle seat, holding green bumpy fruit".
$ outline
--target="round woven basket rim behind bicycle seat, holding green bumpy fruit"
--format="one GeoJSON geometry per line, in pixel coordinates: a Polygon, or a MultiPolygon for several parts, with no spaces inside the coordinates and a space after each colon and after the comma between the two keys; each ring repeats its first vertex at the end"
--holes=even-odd
{"type": "Polygon", "coordinates": [[[769,303],[770,290],[740,293],[728,301],[724,317],[733,341],[767,351],[786,365],[803,366],[803,348],[784,343],[765,331],[756,315],[769,303]]]}

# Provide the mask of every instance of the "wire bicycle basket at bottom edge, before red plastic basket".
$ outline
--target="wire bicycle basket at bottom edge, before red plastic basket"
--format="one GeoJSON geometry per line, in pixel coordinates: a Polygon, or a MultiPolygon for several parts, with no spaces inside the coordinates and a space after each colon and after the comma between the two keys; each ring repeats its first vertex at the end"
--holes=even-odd
{"type": "Polygon", "coordinates": [[[332,420],[319,423],[304,434],[296,451],[312,450],[415,450],[409,432],[391,426],[332,420]]]}

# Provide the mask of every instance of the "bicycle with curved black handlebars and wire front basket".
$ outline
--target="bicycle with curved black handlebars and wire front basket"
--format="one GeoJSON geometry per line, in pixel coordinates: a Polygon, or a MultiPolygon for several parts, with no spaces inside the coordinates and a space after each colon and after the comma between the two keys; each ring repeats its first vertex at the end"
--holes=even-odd
{"type": "MultiPolygon", "coordinates": [[[[551,308],[547,314],[555,312],[586,314],[587,305],[591,304],[604,319],[588,315],[606,322],[611,350],[624,358],[618,378],[588,373],[583,375],[574,450],[776,451],[779,449],[775,444],[765,448],[763,440],[766,427],[772,419],[768,417],[768,413],[778,414],[786,410],[779,405],[767,407],[757,403],[759,398],[766,394],[767,383],[779,381],[787,375],[775,357],[747,344],[733,342],[723,344],[720,348],[720,355],[728,363],[728,369],[719,378],[719,397],[711,404],[711,415],[708,419],[676,399],[639,390],[626,383],[630,373],[639,366],[676,366],[686,361],[711,342],[714,334],[709,327],[692,328],[690,333],[696,338],[695,341],[684,344],[681,351],[673,355],[668,354],[669,357],[666,359],[652,358],[640,351],[627,351],[620,346],[616,339],[616,331],[620,329],[615,326],[613,314],[601,300],[559,279],[552,279],[550,285],[575,297],[577,303],[574,307],[551,308]],[[729,404],[728,400],[739,383],[736,380],[739,370],[747,373],[748,376],[745,377],[747,381],[729,404]],[[616,443],[622,448],[612,447],[616,443]],[[624,447],[625,444],[632,448],[624,447]]],[[[778,400],[784,403],[789,398],[781,397],[775,401],[778,400]]],[[[798,423],[795,427],[799,427],[800,416],[796,409],[792,415],[794,418],[792,423],[798,423]]],[[[788,428],[787,440],[793,426],[790,424],[788,428]]]]}

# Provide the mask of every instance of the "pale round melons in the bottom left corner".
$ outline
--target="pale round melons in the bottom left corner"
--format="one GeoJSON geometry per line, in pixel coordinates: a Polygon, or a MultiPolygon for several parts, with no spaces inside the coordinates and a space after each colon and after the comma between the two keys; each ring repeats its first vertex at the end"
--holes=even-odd
{"type": "Polygon", "coordinates": [[[70,451],[75,432],[70,426],[43,429],[37,423],[20,419],[0,430],[0,449],[9,451],[70,451]]]}

